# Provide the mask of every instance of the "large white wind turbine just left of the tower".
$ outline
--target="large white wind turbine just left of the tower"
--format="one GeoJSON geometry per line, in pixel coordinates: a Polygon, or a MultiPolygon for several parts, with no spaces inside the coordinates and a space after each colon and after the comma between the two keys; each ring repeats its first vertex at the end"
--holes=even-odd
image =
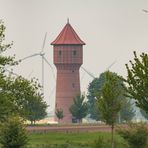
{"type": "Polygon", "coordinates": [[[33,58],[33,57],[36,57],[36,56],[41,56],[41,60],[42,60],[42,67],[41,67],[42,82],[41,82],[41,84],[42,84],[42,93],[43,93],[43,95],[44,95],[44,61],[50,66],[50,68],[52,70],[52,73],[53,73],[53,78],[55,79],[54,69],[51,66],[51,64],[48,62],[48,60],[45,58],[44,47],[45,47],[45,43],[46,43],[46,37],[47,37],[47,32],[45,33],[44,40],[43,40],[43,45],[42,45],[42,48],[41,48],[40,52],[34,53],[32,55],[29,55],[29,56],[26,56],[26,57],[19,60],[20,62],[22,62],[22,61],[27,60],[29,58],[33,58]]]}

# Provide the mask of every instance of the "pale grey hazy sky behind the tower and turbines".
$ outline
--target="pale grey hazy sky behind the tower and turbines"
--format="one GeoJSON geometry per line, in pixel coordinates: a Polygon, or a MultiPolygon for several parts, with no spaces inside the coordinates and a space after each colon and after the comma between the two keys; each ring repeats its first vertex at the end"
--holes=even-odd
{"type": "MultiPolygon", "coordinates": [[[[53,65],[50,43],[65,26],[67,18],[86,43],[83,67],[95,76],[107,69],[126,76],[125,63],[148,51],[148,0],[0,0],[0,19],[6,29],[6,40],[14,41],[7,54],[16,59],[40,52],[45,32],[45,57],[53,65]]],[[[55,68],[55,67],[54,67],[55,68]]],[[[14,71],[26,78],[41,80],[41,57],[23,61],[14,71]]],[[[56,71],[55,71],[56,72],[56,71]]],[[[81,89],[86,91],[92,80],[81,71],[81,89]]],[[[55,80],[45,64],[45,100],[53,110],[55,80]]]]}

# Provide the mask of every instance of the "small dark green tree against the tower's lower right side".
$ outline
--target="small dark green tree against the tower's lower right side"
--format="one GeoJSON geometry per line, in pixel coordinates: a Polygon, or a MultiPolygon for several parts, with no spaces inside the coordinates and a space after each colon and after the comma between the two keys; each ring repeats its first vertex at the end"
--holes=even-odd
{"type": "Polygon", "coordinates": [[[87,102],[84,101],[85,96],[78,94],[74,99],[74,104],[70,107],[70,112],[72,116],[78,120],[79,123],[82,122],[82,119],[86,117],[88,113],[87,102]]]}

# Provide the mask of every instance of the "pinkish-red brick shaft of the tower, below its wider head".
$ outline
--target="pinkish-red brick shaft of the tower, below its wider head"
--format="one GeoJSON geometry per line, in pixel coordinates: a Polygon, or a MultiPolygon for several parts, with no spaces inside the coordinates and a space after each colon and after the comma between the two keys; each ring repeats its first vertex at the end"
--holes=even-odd
{"type": "Polygon", "coordinates": [[[80,93],[80,79],[78,65],[57,66],[56,81],[56,108],[61,108],[64,113],[63,122],[71,123],[72,115],[69,108],[73,98],[80,93]]]}

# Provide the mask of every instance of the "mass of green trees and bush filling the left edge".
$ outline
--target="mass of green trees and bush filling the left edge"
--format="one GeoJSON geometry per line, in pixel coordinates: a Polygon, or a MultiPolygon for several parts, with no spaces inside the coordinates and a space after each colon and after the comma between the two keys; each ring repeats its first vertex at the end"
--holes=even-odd
{"type": "Polygon", "coordinates": [[[6,67],[18,62],[14,61],[14,57],[4,56],[12,45],[3,43],[5,29],[0,21],[0,144],[4,148],[23,148],[27,144],[27,134],[21,119],[28,116],[33,117],[33,121],[43,118],[47,105],[36,80],[29,81],[6,73],[6,67]]]}

